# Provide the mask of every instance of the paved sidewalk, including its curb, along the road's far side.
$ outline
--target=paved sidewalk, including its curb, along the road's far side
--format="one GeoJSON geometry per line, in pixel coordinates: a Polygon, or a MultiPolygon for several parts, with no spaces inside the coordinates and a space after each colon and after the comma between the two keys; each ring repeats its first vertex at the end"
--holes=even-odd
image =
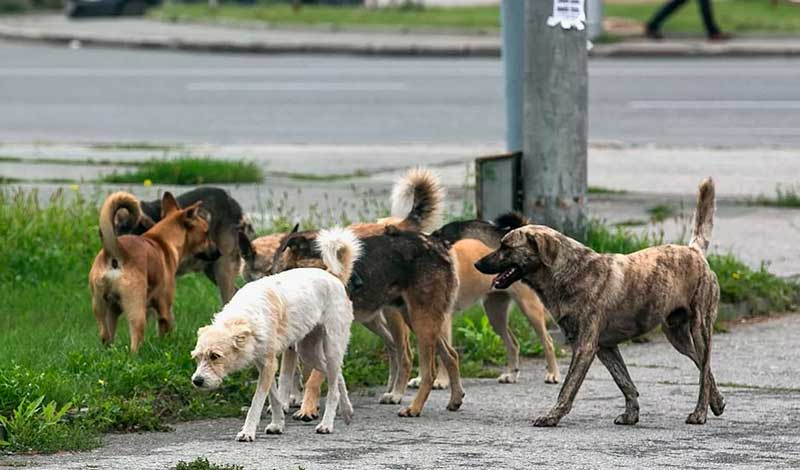
{"type": "MultiPolygon", "coordinates": [[[[60,44],[184,49],[252,53],[331,53],[411,56],[500,55],[497,32],[442,34],[269,28],[205,23],[167,23],[148,19],[81,19],[63,15],[0,16],[0,38],[60,44]]],[[[797,38],[736,38],[723,43],[703,39],[661,42],[631,39],[596,44],[594,56],[796,56],[797,38]]]]}

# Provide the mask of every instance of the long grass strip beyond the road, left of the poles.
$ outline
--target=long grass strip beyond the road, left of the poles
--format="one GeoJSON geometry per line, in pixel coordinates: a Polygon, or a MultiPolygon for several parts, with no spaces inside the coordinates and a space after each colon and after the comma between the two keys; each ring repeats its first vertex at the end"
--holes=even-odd
{"type": "Polygon", "coordinates": [[[294,11],[290,5],[261,0],[252,6],[225,3],[209,8],[202,3],[173,3],[149,11],[164,21],[226,20],[287,25],[331,27],[380,26],[395,28],[457,28],[496,30],[500,28],[497,6],[459,8],[364,8],[305,5],[294,11]]]}

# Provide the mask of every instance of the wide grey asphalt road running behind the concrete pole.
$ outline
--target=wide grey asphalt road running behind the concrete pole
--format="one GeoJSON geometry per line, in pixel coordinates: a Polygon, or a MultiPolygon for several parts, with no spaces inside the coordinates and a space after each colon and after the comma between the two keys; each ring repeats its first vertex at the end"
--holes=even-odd
{"type": "MultiPolygon", "coordinates": [[[[596,59],[590,139],[800,144],[800,59],[596,59]]],[[[496,144],[494,59],[0,43],[0,141],[496,144]]]]}

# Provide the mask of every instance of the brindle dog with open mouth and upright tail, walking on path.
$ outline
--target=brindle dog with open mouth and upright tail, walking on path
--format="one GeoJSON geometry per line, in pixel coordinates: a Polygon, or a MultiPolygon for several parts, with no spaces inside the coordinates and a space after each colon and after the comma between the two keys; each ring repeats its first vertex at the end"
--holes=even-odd
{"type": "Polygon", "coordinates": [[[664,245],[630,255],[598,254],[559,232],[528,225],[506,235],[500,248],[476,267],[497,274],[494,286],[517,280],[532,287],[572,347],[572,362],[558,401],[534,426],[555,426],[572,402],[595,356],[625,396],[625,413],[614,421],[639,421],[639,393],[618,344],[661,326],[670,343],[700,370],[697,407],[688,424],[704,424],[725,409],[711,373],[711,334],[719,284],[705,252],[714,219],[714,183],[700,185],[689,246],[664,245]]]}

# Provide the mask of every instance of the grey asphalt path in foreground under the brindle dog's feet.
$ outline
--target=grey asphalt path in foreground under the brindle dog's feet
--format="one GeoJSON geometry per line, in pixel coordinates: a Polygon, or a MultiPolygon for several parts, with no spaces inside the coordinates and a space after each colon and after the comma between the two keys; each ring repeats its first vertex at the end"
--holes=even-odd
{"type": "MultiPolygon", "coordinates": [[[[697,370],[657,338],[622,350],[641,395],[636,426],[613,424],[623,399],[595,361],[561,424],[531,427],[529,419],[554,403],[559,387],[544,384],[542,361],[527,361],[516,385],[467,380],[464,406],[456,413],[445,410],[448,393],[441,391],[432,393],[417,419],[398,418],[397,405],[378,405],[377,395],[359,394],[353,397],[353,424],[338,419],[327,436],[314,434],[313,423],[290,420],[281,436],[259,434],[253,443],[239,443],[234,436],[240,419],[200,421],[169,433],[109,435],[105,447],[87,453],[7,458],[0,467],[155,470],[206,457],[281,470],[797,468],[798,329],[795,315],[715,336],[712,370],[727,407],[719,418],[709,413],[704,426],[684,424],[697,399],[697,370]]],[[[566,372],[567,363],[561,366],[566,372]]]]}

